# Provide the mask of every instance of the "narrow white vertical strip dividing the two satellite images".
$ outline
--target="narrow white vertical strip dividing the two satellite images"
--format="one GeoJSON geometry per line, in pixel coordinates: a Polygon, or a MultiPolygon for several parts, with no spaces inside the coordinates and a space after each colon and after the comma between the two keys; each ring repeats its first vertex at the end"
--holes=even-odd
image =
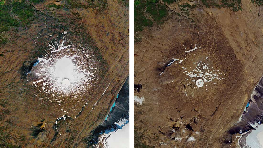
{"type": "Polygon", "coordinates": [[[133,12],[134,12],[134,1],[133,0],[130,0],[129,1],[130,2],[130,7],[129,7],[129,9],[130,9],[130,12],[129,12],[129,32],[130,32],[130,35],[129,35],[129,37],[130,37],[130,39],[129,39],[129,49],[130,49],[130,51],[129,51],[129,65],[130,65],[130,67],[129,67],[129,71],[130,71],[130,83],[129,83],[129,98],[130,98],[130,129],[129,129],[129,146],[130,146],[130,148],[133,148],[134,146],[133,146],[133,144],[134,144],[134,142],[133,142],[133,135],[134,135],[134,133],[133,133],[133,131],[134,131],[134,106],[133,106],[133,76],[134,76],[134,72],[133,72],[133,67],[134,67],[134,60],[133,60],[133,54],[134,54],[134,44],[133,44],[133,38],[134,38],[134,32],[133,32],[133,30],[134,30],[134,17],[133,17],[133,12]]]}

